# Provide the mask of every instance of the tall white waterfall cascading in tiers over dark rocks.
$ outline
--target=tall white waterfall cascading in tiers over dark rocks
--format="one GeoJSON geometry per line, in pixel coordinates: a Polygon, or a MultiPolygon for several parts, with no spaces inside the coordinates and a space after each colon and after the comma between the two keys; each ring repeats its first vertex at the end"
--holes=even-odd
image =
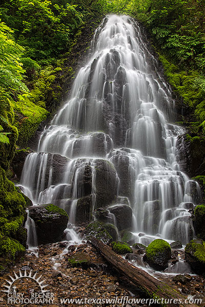
{"type": "Polygon", "coordinates": [[[180,171],[177,137],[185,131],[169,123],[174,101],[145,41],[132,18],[104,19],[70,99],[27,157],[21,184],[34,204],[59,205],[72,223],[124,196],[117,206],[127,198],[136,242],[186,244],[200,189],[180,171]]]}

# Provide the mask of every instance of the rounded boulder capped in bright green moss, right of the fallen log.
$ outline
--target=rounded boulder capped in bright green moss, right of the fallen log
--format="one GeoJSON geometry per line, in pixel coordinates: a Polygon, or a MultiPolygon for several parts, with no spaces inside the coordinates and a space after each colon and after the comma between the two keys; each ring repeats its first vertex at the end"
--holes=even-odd
{"type": "Polygon", "coordinates": [[[162,239],[155,239],[146,248],[144,260],[156,270],[165,270],[171,258],[171,247],[162,239]]]}

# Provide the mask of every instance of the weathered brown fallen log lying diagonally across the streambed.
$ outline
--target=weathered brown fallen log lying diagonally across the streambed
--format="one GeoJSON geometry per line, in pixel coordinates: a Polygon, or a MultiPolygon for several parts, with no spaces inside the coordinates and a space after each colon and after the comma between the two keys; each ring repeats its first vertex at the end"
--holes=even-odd
{"type": "Polygon", "coordinates": [[[149,275],[144,270],[141,270],[127,260],[116,254],[108,245],[104,244],[96,238],[91,238],[90,243],[97,248],[101,255],[128,281],[134,283],[144,294],[152,299],[156,299],[157,304],[170,307],[196,307],[196,304],[186,303],[186,296],[177,292],[175,289],[168,286],[156,278],[149,275]]]}

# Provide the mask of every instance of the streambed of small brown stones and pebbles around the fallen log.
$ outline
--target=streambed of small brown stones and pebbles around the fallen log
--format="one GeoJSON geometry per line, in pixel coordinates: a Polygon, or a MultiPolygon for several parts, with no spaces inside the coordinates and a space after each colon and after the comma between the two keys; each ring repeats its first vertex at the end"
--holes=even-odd
{"type": "MultiPolygon", "coordinates": [[[[136,255],[134,251],[133,255],[136,255]]],[[[129,258],[129,257],[128,257],[129,258]]],[[[130,259],[129,259],[130,260],[130,259]]],[[[5,284],[13,281],[11,288],[15,286],[16,296],[24,294],[24,298],[31,297],[32,293],[40,294],[42,289],[39,284],[29,278],[19,276],[20,272],[24,276],[26,270],[27,276],[32,270],[31,276],[37,272],[36,279],[43,281],[45,290],[53,294],[53,300],[49,306],[147,306],[147,304],[133,303],[133,299],[143,298],[144,295],[136,290],[132,284],[128,283],[125,277],[120,275],[112,268],[106,260],[101,257],[90,243],[83,242],[80,245],[68,245],[68,242],[58,242],[53,244],[42,245],[38,250],[38,257],[31,251],[27,251],[24,258],[10,268],[4,276],[0,277],[1,289],[6,289],[5,284]],[[15,275],[16,274],[16,275],[15,275]],[[41,276],[42,275],[42,276],[41,276]],[[41,276],[41,277],[40,277],[41,276]],[[11,278],[12,277],[12,278],[11,278]],[[126,297],[125,301],[117,301],[126,297]],[[68,299],[83,299],[83,301],[69,303],[68,299]],[[85,299],[94,299],[86,303],[85,299]],[[110,299],[104,302],[99,299],[110,299]]],[[[165,282],[174,289],[180,290],[187,297],[194,296],[202,298],[205,301],[204,287],[205,278],[201,275],[162,275],[156,277],[165,282]]],[[[11,291],[11,293],[13,293],[11,291]]],[[[33,295],[34,295],[33,294],[33,295]]],[[[13,294],[12,294],[13,295],[13,294]]],[[[0,298],[0,306],[7,305],[8,294],[3,293],[0,298]]],[[[47,306],[46,303],[10,303],[11,306],[47,306]]],[[[203,304],[199,304],[203,306],[203,304]]]]}

